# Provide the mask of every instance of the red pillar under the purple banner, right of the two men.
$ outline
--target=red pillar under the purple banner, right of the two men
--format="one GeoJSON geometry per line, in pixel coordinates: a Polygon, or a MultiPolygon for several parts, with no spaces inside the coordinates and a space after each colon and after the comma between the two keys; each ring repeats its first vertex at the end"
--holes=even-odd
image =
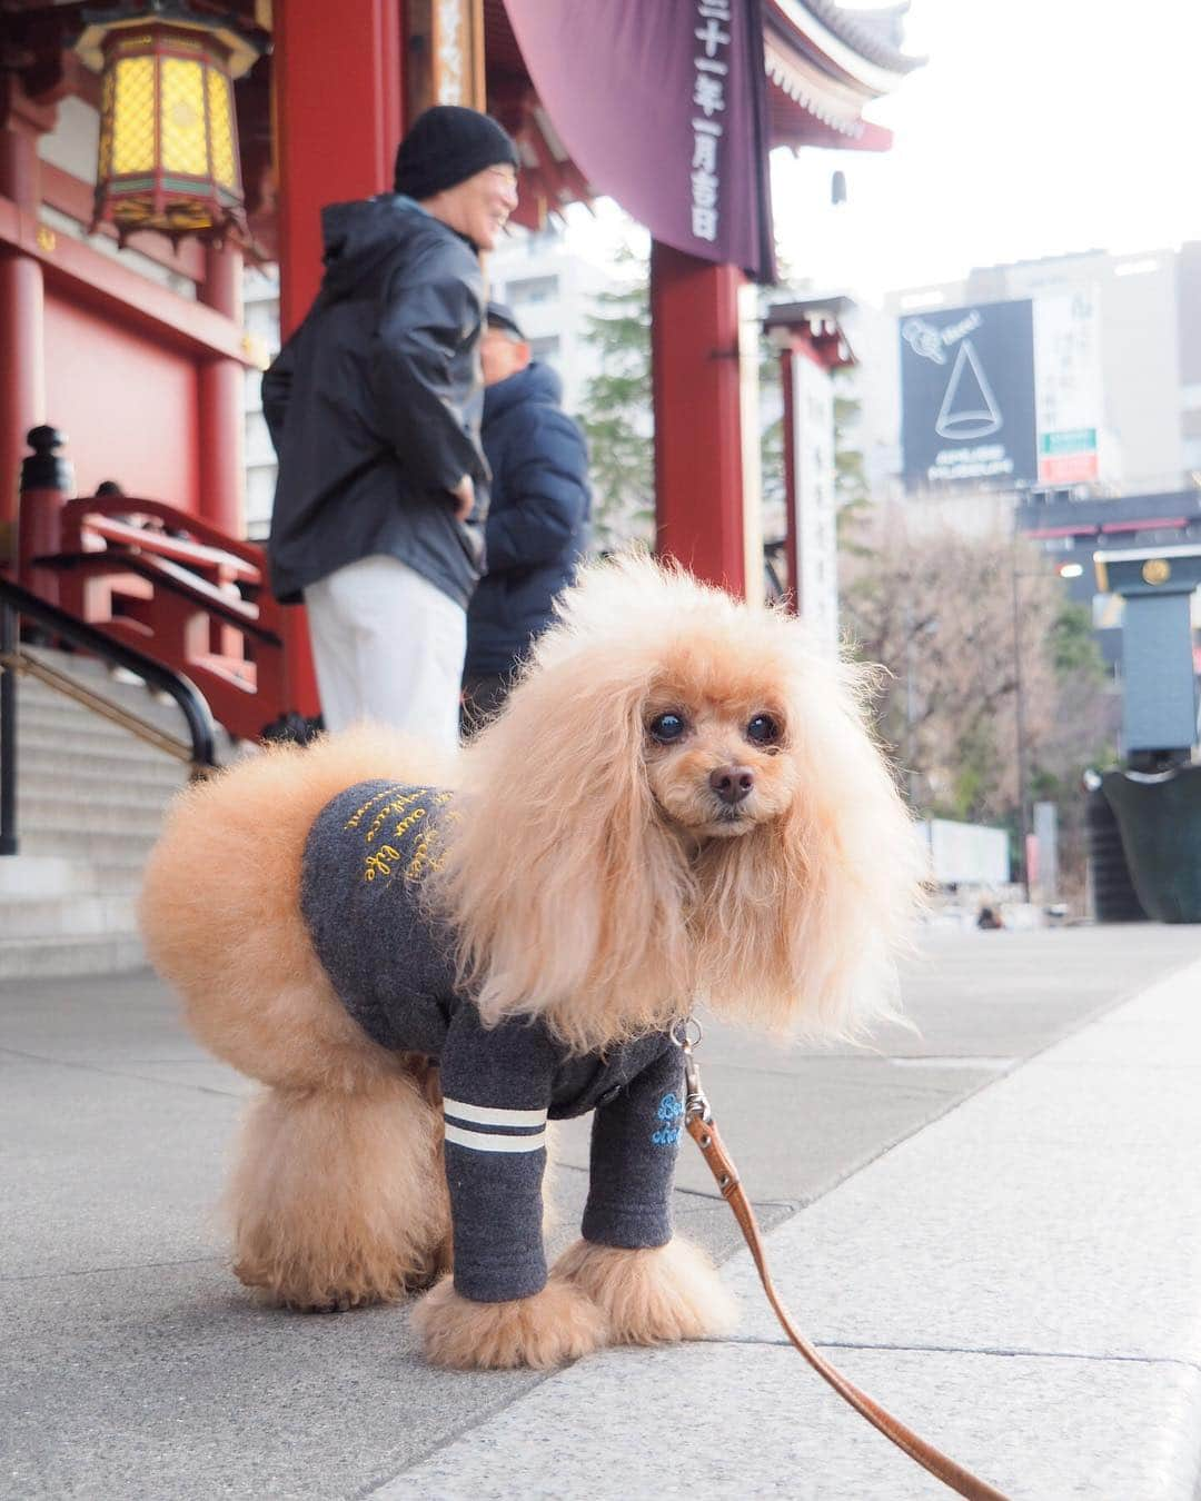
{"type": "Polygon", "coordinates": [[[655,494],[661,552],[746,594],[739,288],[658,240],[650,252],[655,494]]]}

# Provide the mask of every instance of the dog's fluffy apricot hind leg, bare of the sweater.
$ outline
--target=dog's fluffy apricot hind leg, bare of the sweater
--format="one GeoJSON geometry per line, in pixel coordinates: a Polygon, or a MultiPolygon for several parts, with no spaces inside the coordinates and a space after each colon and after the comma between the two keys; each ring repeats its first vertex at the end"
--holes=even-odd
{"type": "Polygon", "coordinates": [[[405,1075],[362,1093],[269,1090],[230,1184],[234,1271],[272,1301],[395,1301],[444,1265],[438,1120],[405,1075]]]}

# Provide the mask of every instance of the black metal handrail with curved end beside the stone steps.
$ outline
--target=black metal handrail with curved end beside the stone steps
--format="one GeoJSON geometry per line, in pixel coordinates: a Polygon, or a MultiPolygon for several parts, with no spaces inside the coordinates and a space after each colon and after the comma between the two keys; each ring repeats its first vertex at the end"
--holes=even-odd
{"type": "Polygon", "coordinates": [[[216,767],[216,726],[200,689],[182,672],[164,666],[137,647],[114,641],[84,620],[0,578],[0,856],[17,854],[17,657],[20,618],[27,617],[81,651],[135,672],[150,687],[170,693],[188,723],[192,776],[216,767]]]}

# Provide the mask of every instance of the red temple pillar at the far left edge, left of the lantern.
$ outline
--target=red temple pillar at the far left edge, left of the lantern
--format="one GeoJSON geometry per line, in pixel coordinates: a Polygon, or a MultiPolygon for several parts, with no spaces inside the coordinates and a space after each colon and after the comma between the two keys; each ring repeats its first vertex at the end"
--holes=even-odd
{"type": "MultiPolygon", "coordinates": [[[[36,219],[41,203],[38,135],[53,110],[0,81],[0,198],[36,219]]],[[[26,434],[47,420],[45,293],[32,255],[0,251],[0,566],[15,560],[17,510],[26,434]]]]}

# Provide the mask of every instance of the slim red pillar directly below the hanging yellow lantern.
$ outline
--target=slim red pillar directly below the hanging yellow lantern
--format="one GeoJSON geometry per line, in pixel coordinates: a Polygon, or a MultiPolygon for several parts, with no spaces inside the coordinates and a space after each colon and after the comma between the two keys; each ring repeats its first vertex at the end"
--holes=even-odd
{"type": "MultiPolygon", "coordinates": [[[[209,246],[198,299],[242,324],[242,255],[209,246]]],[[[246,531],[243,368],[231,359],[200,366],[200,515],[233,537],[246,531]]]]}

